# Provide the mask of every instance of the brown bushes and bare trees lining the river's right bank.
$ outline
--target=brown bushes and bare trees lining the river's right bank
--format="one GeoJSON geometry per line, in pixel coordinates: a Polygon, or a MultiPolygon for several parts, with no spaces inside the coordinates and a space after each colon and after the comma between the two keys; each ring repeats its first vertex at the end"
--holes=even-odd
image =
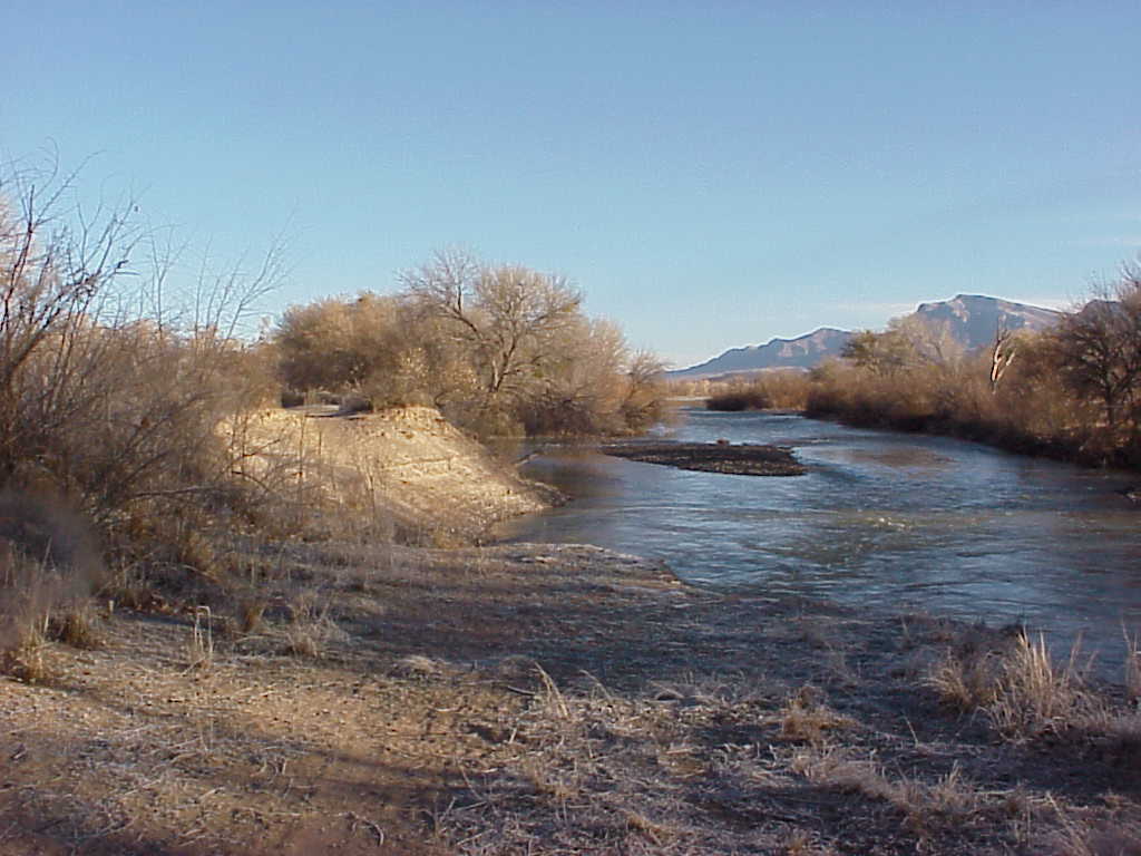
{"type": "Polygon", "coordinates": [[[1099,289],[1051,330],[997,330],[964,353],[914,318],[861,331],[806,372],[713,390],[707,406],[800,409],[852,425],[949,434],[1089,465],[1141,466],[1141,268],[1099,289]]]}

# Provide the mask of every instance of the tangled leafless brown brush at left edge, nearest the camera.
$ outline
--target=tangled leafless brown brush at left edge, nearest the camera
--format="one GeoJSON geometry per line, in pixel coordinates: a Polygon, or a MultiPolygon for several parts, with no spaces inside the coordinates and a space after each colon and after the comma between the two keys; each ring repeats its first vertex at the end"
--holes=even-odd
{"type": "Polygon", "coordinates": [[[132,210],[86,209],[55,164],[0,173],[0,660],[27,677],[46,633],[86,638],[91,592],[217,583],[211,531],[290,519],[285,474],[236,478],[219,429],[275,393],[237,333],[280,253],[175,293],[185,259],[132,210]]]}

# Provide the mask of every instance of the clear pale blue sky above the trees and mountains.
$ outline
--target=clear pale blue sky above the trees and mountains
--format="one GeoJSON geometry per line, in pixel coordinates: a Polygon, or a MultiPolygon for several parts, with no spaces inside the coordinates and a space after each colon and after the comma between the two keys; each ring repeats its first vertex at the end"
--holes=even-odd
{"type": "Polygon", "coordinates": [[[83,164],[191,255],[281,245],[270,317],[463,248],[683,368],[1068,306],[1141,252],[1135,0],[0,8],[0,160],[83,164]]]}

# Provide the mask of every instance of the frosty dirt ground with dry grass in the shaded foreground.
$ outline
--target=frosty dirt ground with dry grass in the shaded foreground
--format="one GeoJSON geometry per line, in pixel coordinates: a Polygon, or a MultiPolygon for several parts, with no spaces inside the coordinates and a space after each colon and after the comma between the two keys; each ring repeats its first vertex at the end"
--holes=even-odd
{"type": "Polygon", "coordinates": [[[0,854],[1141,853],[1135,713],[1001,738],[924,681],[997,631],[591,547],[235,550],[0,679],[0,854]]]}

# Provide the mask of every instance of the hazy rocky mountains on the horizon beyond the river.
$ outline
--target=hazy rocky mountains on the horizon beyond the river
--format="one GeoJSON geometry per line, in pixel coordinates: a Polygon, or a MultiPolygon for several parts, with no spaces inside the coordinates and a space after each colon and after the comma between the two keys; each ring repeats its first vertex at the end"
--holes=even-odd
{"type": "MultiPolygon", "coordinates": [[[[948,332],[971,350],[994,341],[1000,325],[1011,331],[1044,330],[1055,324],[1061,313],[997,297],[956,294],[950,300],[920,304],[913,315],[945,324],[948,332]]],[[[693,380],[766,369],[811,369],[827,357],[840,356],[850,338],[848,330],[820,328],[795,339],[772,339],[766,345],[733,348],[699,365],[669,372],[667,377],[693,380]]]]}

